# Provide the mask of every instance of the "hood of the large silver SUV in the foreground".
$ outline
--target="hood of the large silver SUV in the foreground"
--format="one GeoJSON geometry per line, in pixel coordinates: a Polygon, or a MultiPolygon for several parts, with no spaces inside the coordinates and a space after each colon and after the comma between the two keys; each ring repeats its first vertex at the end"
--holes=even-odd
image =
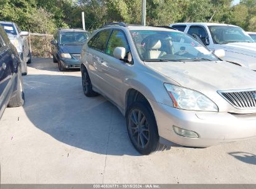
{"type": "Polygon", "coordinates": [[[224,61],[150,62],[148,67],[197,91],[256,88],[256,73],[224,61]]]}

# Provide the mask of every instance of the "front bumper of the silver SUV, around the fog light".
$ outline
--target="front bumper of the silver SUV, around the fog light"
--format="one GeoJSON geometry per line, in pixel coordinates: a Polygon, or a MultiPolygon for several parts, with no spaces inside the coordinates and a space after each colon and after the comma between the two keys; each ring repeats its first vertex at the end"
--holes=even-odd
{"type": "Polygon", "coordinates": [[[209,147],[256,136],[256,114],[185,111],[150,102],[158,124],[159,136],[175,144],[209,147]],[[174,132],[173,126],[194,131],[199,138],[179,136],[174,132]]]}

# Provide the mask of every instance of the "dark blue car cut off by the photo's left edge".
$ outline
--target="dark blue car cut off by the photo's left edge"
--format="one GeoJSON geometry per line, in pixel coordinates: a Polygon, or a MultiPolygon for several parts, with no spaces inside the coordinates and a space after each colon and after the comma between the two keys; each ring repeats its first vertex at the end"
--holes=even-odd
{"type": "Polygon", "coordinates": [[[19,54],[0,26],[0,118],[6,106],[23,106],[24,101],[19,54]]]}

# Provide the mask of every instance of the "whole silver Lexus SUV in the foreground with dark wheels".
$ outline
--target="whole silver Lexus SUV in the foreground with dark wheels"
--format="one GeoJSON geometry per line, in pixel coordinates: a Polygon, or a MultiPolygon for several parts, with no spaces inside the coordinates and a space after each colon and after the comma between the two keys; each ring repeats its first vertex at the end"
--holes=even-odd
{"type": "Polygon", "coordinates": [[[83,46],[83,91],[120,109],[141,154],[254,137],[256,73],[223,56],[178,30],[105,25],[83,46]]]}

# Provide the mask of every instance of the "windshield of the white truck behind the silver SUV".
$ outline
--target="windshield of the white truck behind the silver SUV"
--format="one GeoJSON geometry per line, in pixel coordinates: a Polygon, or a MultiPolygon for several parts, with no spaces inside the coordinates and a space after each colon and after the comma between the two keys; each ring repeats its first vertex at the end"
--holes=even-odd
{"type": "Polygon", "coordinates": [[[230,25],[211,25],[208,27],[214,44],[254,42],[254,40],[252,40],[252,38],[240,27],[230,25]]]}

